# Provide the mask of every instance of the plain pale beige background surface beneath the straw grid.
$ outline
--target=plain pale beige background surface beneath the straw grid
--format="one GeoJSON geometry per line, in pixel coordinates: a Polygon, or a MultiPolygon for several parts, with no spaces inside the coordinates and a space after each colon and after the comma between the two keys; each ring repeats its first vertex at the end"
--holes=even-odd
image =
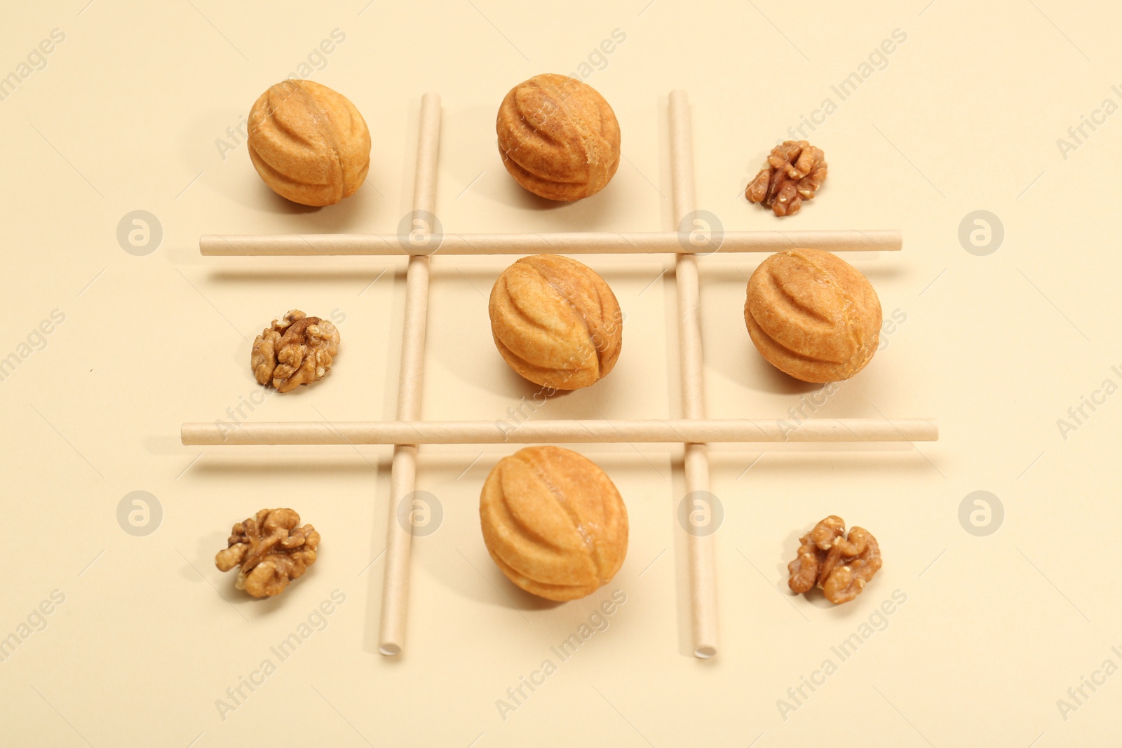
{"type": "MultiPolygon", "coordinates": [[[[1111,650],[1122,650],[1122,397],[1085,407],[1091,417],[1066,440],[1057,419],[1104,380],[1122,384],[1111,370],[1122,369],[1113,239],[1122,116],[1094,132],[1085,126],[1089,137],[1066,158],[1057,138],[1104,99],[1122,103],[1111,90],[1122,84],[1119,10],[1056,0],[646,1],[6,9],[0,74],[52,29],[65,34],[47,66],[0,101],[0,357],[18,355],[53,310],[65,315],[0,382],[0,636],[17,632],[52,591],[65,595],[0,663],[6,745],[1116,742],[1122,675],[1094,673],[1107,658],[1122,665],[1111,650]],[[344,203],[303,210],[264,186],[243,145],[223,159],[215,140],[333,29],[346,41],[311,77],[366,117],[370,176],[344,203]],[[576,72],[614,29],[626,40],[587,80],[619,118],[626,160],[596,197],[546,206],[504,172],[495,110],[521,80],[576,72]],[[886,66],[807,130],[830,164],[819,196],[782,222],[746,204],[744,185],[775,139],[825,98],[837,102],[831,84],[894,29],[907,40],[886,66]],[[436,205],[445,230],[670,230],[674,87],[693,105],[698,206],[726,229],[903,229],[903,252],[849,259],[885,316],[899,310],[907,321],[816,415],[936,417],[942,440],[715,447],[725,518],[716,535],[723,649],[711,662],[687,654],[680,447],[581,447],[626,498],[631,547],[609,587],[564,606],[517,591],[482,546],[479,488],[511,450],[425,447],[419,488],[439,498],[443,524],[414,544],[407,652],[379,656],[390,450],[184,447],[178,427],[227,418],[259,397],[250,341],[294,306],[337,315],[337,368],[243,413],[392,417],[404,262],[202,258],[199,234],[394,231],[410,207],[419,101],[430,90],[443,96],[436,205]],[[116,239],[118,221],[138,209],[164,231],[146,257],[116,239]],[[975,210],[1004,225],[986,257],[958,240],[975,210]],[[134,490],[163,508],[148,536],[118,524],[118,504],[134,490]],[[958,519],[975,490],[1004,506],[985,537],[958,519]],[[213,554],[233,521],[282,505],[321,530],[321,561],[283,598],[247,599],[213,554]],[[873,530],[886,560],[865,594],[837,609],[784,587],[798,534],[830,512],[873,530]],[[626,603],[609,627],[560,662],[550,647],[614,589],[626,603]],[[346,602],[327,628],[278,662],[269,647],[333,590],[346,602]],[[907,602],[840,662],[830,647],[871,616],[881,625],[875,611],[896,590],[907,602]],[[243,687],[248,698],[223,719],[217,700],[265,658],[276,672],[252,693],[243,687]],[[496,701],[546,658],[557,672],[503,719],[496,701]],[[809,699],[782,714],[778,701],[797,705],[788,689],[827,658],[837,672],[812,694],[803,686],[809,699]],[[1103,684],[1084,686],[1079,705],[1067,691],[1083,677],[1103,684]],[[1078,707],[1066,719],[1059,699],[1078,707]]],[[[741,314],[758,259],[703,261],[714,416],[782,417],[816,391],[751,345],[741,314]]],[[[626,311],[623,357],[604,382],[533,417],[678,415],[673,278],[660,276],[669,258],[589,261],[626,311]]],[[[489,338],[485,296],[504,266],[434,261],[426,417],[502,418],[533,393],[489,338]]]]}

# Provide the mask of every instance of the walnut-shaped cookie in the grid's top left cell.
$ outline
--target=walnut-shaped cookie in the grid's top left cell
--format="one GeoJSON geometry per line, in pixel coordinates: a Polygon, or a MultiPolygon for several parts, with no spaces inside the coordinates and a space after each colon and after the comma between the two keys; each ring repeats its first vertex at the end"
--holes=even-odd
{"type": "Polygon", "coordinates": [[[265,184],[303,205],[355,194],[370,168],[370,132],[347,96],[312,81],[283,81],[249,110],[249,158],[265,184]]]}

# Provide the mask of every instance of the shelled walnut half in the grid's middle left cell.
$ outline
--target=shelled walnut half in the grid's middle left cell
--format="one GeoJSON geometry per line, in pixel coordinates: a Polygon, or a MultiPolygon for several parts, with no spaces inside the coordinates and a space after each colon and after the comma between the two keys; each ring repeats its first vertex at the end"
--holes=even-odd
{"type": "Polygon", "coordinates": [[[322,379],[338,353],[338,327],[291,310],[254,341],[249,366],[257,384],[287,393],[322,379]]]}

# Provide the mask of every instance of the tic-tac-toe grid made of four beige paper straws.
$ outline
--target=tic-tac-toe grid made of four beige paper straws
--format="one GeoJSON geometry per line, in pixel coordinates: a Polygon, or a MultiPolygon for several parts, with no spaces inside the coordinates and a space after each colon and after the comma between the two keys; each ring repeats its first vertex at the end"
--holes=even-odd
{"type": "MultiPolygon", "coordinates": [[[[657,233],[444,233],[434,227],[440,96],[421,99],[416,179],[408,229],[399,234],[203,236],[204,256],[408,255],[405,315],[398,378],[397,421],[349,423],[241,423],[227,432],[210,423],[183,424],[183,444],[393,444],[386,571],[378,637],[384,655],[397,655],[405,641],[412,534],[396,520],[397,506],[416,488],[419,444],[531,443],[681,443],[687,496],[709,490],[708,442],[901,442],[935,441],[930,419],[812,418],[791,431],[782,419],[710,419],[706,417],[699,318],[698,257],[725,252],[774,252],[797,247],[827,251],[899,250],[899,231],[741,231],[716,236],[696,223],[690,107],[686,92],[669,96],[671,178],[677,232],[657,233]],[[504,432],[488,421],[421,419],[425,330],[431,256],[673,253],[678,296],[682,418],[651,421],[527,421],[504,432]]],[[[717,587],[712,535],[687,533],[687,563],[693,654],[717,654],[717,587]]]]}

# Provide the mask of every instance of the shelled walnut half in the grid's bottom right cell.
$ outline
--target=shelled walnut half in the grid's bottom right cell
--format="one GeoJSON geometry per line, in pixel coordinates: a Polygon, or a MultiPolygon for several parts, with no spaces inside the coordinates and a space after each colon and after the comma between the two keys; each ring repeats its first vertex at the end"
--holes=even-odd
{"type": "Polygon", "coordinates": [[[834,604],[849,602],[881,569],[881,547],[863,527],[845,534],[845,520],[830,515],[799,538],[799,555],[787,565],[793,592],[821,589],[834,604]]]}

